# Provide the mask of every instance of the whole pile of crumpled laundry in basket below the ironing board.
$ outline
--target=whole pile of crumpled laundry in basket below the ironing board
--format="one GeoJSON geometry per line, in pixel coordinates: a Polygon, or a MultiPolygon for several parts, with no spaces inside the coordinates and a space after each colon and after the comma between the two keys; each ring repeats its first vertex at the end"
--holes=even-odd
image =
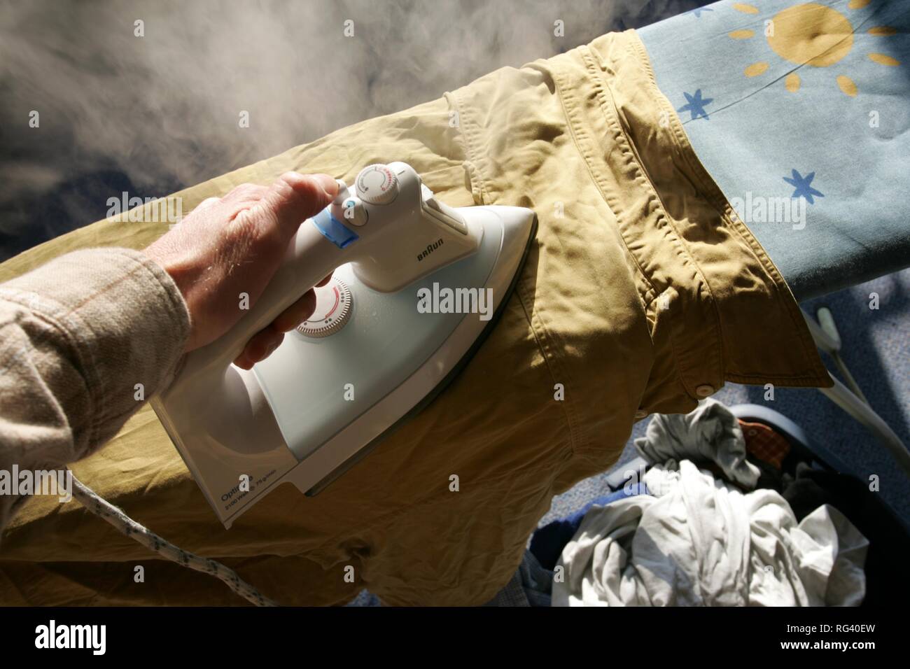
{"type": "Polygon", "coordinates": [[[883,502],[765,426],[709,399],[635,447],[641,481],[535,532],[497,603],[858,606],[895,587],[908,540],[883,502]]]}

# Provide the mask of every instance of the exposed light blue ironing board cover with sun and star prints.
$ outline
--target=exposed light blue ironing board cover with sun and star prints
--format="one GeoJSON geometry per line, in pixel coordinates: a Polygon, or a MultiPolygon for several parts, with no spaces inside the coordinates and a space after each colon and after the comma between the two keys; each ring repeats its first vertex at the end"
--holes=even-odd
{"type": "Polygon", "coordinates": [[[797,298],[910,265],[910,2],[724,0],[638,34],[797,298]]]}

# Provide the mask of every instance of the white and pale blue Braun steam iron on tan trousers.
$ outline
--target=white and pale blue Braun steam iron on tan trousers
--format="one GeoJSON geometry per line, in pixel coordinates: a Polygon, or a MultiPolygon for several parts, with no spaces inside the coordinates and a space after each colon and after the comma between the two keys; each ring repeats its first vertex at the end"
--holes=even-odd
{"type": "Polygon", "coordinates": [[[429,404],[496,322],[536,229],[531,209],[446,206],[405,163],[339,181],[256,305],[151,400],[225,527],[281,483],[324,489],[429,404]],[[232,364],[332,271],[267,360],[232,364]]]}

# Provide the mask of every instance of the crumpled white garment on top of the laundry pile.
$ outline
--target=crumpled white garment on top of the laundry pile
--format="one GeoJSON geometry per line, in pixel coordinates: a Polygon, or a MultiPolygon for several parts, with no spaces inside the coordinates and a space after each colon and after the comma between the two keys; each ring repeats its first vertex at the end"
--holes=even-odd
{"type": "Polygon", "coordinates": [[[796,522],[778,492],[741,492],[688,460],[643,480],[652,494],[585,515],[557,563],[553,606],[862,603],[869,542],[834,507],[796,522]]]}

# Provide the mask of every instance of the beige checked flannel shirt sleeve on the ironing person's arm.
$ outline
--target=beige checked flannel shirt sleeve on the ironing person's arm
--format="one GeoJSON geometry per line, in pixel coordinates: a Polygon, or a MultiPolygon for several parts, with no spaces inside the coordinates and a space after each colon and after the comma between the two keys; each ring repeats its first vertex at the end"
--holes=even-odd
{"type": "MultiPolygon", "coordinates": [[[[177,368],[177,286],[128,248],[80,250],[0,284],[0,470],[95,451],[177,368]]],[[[24,499],[0,495],[0,529],[24,499]]]]}

